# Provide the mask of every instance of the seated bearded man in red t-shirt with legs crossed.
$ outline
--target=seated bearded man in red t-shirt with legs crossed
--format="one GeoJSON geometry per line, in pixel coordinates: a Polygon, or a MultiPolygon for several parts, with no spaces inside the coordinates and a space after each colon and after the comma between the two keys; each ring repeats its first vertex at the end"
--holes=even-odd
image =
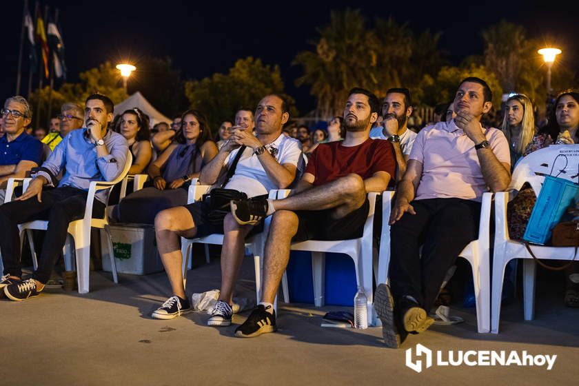
{"type": "Polygon", "coordinates": [[[232,214],[240,224],[253,224],[273,214],[265,243],[261,302],[235,330],[236,336],[250,338],[276,330],[272,303],[292,241],[362,236],[369,211],[367,192],[385,190],[396,170],[392,143],[369,138],[379,109],[372,92],[350,90],[344,109],[344,141],[318,145],[290,196],[232,201],[232,214]]]}

